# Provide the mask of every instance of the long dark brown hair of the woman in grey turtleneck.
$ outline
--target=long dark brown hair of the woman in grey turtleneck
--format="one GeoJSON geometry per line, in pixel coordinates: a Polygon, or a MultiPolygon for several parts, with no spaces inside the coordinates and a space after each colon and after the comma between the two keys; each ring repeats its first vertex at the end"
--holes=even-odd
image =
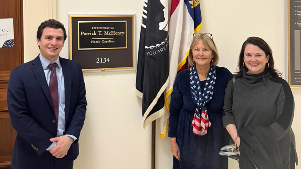
{"type": "Polygon", "coordinates": [[[272,54],[272,49],[270,46],[262,39],[258,37],[249,37],[247,38],[246,41],[244,41],[241,51],[239,54],[239,60],[238,60],[238,69],[237,69],[237,76],[240,77],[242,75],[244,66],[244,51],[247,45],[255,45],[258,46],[262,51],[265,53],[265,57],[268,55],[270,58],[268,59],[268,68],[265,67],[265,73],[270,72],[270,74],[274,77],[282,77],[282,73],[280,73],[277,69],[275,69],[275,64],[274,64],[274,59],[273,59],[273,54],[272,54]]]}

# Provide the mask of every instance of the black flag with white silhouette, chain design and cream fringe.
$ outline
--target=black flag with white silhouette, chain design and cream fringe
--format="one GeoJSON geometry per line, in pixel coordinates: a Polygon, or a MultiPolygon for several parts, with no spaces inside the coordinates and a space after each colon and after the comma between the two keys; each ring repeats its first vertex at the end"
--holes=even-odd
{"type": "Polygon", "coordinates": [[[142,98],[145,128],[165,112],[164,90],[169,82],[169,40],[167,0],[144,0],[143,6],[136,94],[142,98]]]}

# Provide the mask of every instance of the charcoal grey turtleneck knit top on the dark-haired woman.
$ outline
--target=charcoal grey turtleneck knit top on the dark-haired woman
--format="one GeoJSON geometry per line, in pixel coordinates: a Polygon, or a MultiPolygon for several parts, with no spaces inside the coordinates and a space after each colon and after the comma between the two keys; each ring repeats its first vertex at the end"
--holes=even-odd
{"type": "Polygon", "coordinates": [[[294,99],[290,86],[284,79],[272,77],[266,71],[257,75],[247,71],[244,68],[242,76],[236,79],[233,96],[233,82],[228,83],[222,118],[224,127],[234,124],[239,130],[249,126],[270,126],[275,131],[283,168],[292,168],[298,160],[291,129],[294,99]]]}

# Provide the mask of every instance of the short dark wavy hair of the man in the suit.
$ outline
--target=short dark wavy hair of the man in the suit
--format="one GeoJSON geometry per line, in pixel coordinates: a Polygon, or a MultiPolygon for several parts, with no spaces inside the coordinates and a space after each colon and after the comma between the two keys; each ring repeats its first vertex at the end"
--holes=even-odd
{"type": "Polygon", "coordinates": [[[41,40],[43,30],[47,27],[54,28],[54,29],[60,29],[60,28],[63,29],[64,42],[65,42],[65,40],[67,39],[66,29],[65,29],[64,25],[61,22],[59,22],[57,20],[54,20],[54,19],[45,20],[45,22],[41,23],[41,25],[38,28],[37,39],[41,40]]]}

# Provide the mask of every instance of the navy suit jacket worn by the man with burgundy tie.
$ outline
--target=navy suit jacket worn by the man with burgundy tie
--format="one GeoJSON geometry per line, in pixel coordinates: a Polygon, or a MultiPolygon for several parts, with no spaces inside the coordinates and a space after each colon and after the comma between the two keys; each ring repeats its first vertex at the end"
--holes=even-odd
{"type": "MultiPolygon", "coordinates": [[[[11,71],[8,82],[7,103],[11,123],[17,138],[11,168],[53,169],[57,164],[70,163],[79,155],[78,140],[85,120],[86,91],[79,63],[60,57],[65,82],[64,134],[77,138],[68,154],[55,158],[46,149],[56,137],[57,124],[49,87],[41,61],[34,60],[17,66],[11,71]]],[[[66,167],[63,167],[66,168],[66,167]]]]}

